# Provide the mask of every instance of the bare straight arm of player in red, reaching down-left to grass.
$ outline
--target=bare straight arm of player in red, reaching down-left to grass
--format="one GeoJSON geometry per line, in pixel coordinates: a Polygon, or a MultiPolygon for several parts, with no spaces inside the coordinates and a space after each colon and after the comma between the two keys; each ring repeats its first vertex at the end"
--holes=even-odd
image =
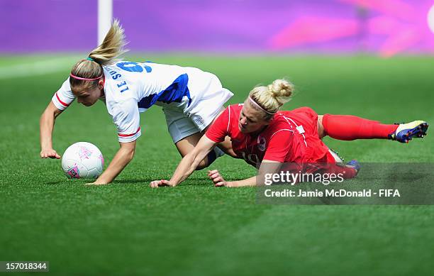
{"type": "Polygon", "coordinates": [[[184,180],[189,177],[194,170],[196,170],[196,167],[199,165],[201,160],[204,160],[206,155],[208,155],[211,150],[213,150],[214,147],[216,147],[217,143],[213,140],[209,139],[205,135],[202,136],[201,140],[199,140],[199,143],[197,143],[196,147],[194,147],[193,150],[191,150],[190,153],[184,156],[182,158],[181,162],[179,163],[177,170],[175,170],[174,174],[172,175],[172,178],[167,180],[155,180],[150,182],[150,187],[157,188],[159,186],[176,186],[177,184],[183,182],[184,180]]]}

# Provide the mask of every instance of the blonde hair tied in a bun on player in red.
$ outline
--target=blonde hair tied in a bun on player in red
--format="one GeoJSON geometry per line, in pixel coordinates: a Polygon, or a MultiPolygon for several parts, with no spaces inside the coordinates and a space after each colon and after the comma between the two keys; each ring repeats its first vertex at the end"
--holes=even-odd
{"type": "Polygon", "coordinates": [[[250,91],[250,98],[255,101],[260,108],[265,111],[265,114],[271,118],[280,106],[291,100],[294,93],[294,84],[286,79],[276,79],[272,84],[260,87],[255,87],[250,91]]]}

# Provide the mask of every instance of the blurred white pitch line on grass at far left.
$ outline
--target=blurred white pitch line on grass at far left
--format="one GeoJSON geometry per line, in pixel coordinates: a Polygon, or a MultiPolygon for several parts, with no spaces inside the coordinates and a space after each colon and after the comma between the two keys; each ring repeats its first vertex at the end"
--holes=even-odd
{"type": "MultiPolygon", "coordinates": [[[[0,67],[0,79],[49,74],[72,67],[79,57],[60,57],[51,60],[35,61],[0,67]]],[[[66,79],[66,76],[65,76],[66,79]]]]}

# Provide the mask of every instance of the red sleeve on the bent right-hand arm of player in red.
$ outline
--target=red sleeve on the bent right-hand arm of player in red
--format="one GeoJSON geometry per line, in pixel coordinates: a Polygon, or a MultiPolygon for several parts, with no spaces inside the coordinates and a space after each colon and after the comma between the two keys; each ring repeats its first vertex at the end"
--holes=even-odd
{"type": "Polygon", "coordinates": [[[285,162],[291,155],[292,131],[289,129],[279,129],[272,134],[269,139],[264,160],[285,162]]]}

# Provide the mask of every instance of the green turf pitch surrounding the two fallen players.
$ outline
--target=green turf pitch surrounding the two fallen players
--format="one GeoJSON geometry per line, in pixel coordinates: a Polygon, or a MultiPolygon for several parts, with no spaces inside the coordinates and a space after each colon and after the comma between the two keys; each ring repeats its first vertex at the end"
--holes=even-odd
{"type": "MultiPolygon", "coordinates": [[[[84,56],[84,55],[83,55],[84,56]]],[[[7,67],[54,56],[0,57],[7,67]]],[[[354,114],[385,123],[434,122],[433,57],[220,57],[136,55],[199,67],[245,99],[256,84],[289,77],[297,94],[284,106],[354,114]]],[[[74,59],[71,59],[74,60],[74,59]]],[[[67,77],[64,70],[0,74],[0,260],[48,260],[57,274],[428,275],[433,273],[433,206],[293,206],[256,203],[255,188],[215,188],[206,170],[176,188],[150,189],[180,160],[160,107],[141,115],[134,160],[115,182],[67,180],[60,160],[39,158],[39,116],[67,77]],[[18,73],[17,73],[18,74],[18,73]]],[[[45,65],[50,66],[50,65],[45,65]]],[[[433,136],[325,143],[362,162],[433,162],[433,136]]],[[[118,149],[104,104],[72,104],[58,119],[54,148],[97,145],[106,164],[118,149]]],[[[227,180],[250,177],[242,160],[211,168],[227,180]]]]}

